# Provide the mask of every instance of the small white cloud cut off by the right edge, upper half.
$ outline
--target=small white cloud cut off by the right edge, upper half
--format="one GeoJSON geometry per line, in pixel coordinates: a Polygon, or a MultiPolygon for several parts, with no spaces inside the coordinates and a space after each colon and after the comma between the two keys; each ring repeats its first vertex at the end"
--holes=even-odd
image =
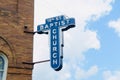
{"type": "Polygon", "coordinates": [[[120,18],[117,20],[112,20],[108,23],[110,28],[113,28],[115,32],[118,34],[120,37],[120,18]]]}

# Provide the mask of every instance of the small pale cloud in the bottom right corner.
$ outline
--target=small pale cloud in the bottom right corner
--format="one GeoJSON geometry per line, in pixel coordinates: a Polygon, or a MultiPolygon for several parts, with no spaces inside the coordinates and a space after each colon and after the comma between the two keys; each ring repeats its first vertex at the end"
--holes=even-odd
{"type": "Polygon", "coordinates": [[[120,80],[120,71],[104,71],[104,80],[120,80]]]}

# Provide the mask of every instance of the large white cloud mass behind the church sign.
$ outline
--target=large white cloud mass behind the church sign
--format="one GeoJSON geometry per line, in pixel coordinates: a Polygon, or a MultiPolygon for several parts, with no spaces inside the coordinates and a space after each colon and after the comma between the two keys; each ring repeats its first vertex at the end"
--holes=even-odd
{"type": "MultiPolygon", "coordinates": [[[[98,72],[97,66],[84,70],[84,52],[93,48],[100,48],[100,41],[96,31],[85,29],[87,21],[97,20],[107,15],[113,0],[35,0],[35,26],[44,24],[44,20],[51,16],[65,14],[76,19],[76,28],[64,32],[64,61],[63,69],[55,72],[49,63],[35,66],[33,80],[80,80],[89,78],[98,72]],[[86,76],[85,76],[86,75],[86,76]]],[[[91,26],[92,27],[92,26],[91,26]]],[[[35,27],[36,30],[36,27],[35,27]]],[[[49,58],[48,36],[35,36],[34,61],[49,58]]]]}

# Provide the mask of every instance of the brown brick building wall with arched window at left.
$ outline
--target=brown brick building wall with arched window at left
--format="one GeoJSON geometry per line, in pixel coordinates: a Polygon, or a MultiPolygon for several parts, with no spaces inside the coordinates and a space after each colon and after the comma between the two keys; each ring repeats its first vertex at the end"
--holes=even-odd
{"type": "Polygon", "coordinates": [[[0,0],[0,80],[32,80],[33,19],[34,0],[0,0]]]}

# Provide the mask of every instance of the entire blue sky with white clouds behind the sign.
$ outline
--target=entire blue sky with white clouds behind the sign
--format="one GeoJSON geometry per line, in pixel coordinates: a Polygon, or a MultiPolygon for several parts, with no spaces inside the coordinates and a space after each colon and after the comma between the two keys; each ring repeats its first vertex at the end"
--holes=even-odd
{"type": "MultiPolygon", "coordinates": [[[[64,32],[63,68],[34,65],[33,80],[120,80],[120,0],[35,0],[34,31],[45,19],[75,18],[64,32]]],[[[50,59],[49,34],[34,35],[33,61],[50,59]]]]}

